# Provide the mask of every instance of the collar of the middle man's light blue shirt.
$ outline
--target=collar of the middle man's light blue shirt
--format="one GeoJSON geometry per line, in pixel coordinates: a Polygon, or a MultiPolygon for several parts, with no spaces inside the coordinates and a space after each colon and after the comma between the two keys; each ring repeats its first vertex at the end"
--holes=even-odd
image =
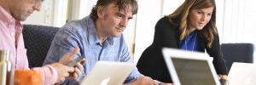
{"type": "MultiPolygon", "coordinates": [[[[100,39],[96,33],[96,26],[95,26],[95,23],[94,21],[90,18],[90,15],[85,17],[83,20],[87,20],[87,21],[84,21],[85,24],[84,25],[87,25],[88,27],[88,41],[89,41],[89,44],[91,43],[100,43],[100,39]]],[[[108,37],[106,42],[109,43],[110,45],[113,45],[113,37],[108,37]]]]}

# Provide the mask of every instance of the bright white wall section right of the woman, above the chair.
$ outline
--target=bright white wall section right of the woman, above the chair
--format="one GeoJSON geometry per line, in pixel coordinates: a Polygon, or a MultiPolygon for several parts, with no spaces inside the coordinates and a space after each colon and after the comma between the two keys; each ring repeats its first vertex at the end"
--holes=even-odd
{"type": "Polygon", "coordinates": [[[223,42],[256,42],[255,0],[225,0],[223,42]]]}

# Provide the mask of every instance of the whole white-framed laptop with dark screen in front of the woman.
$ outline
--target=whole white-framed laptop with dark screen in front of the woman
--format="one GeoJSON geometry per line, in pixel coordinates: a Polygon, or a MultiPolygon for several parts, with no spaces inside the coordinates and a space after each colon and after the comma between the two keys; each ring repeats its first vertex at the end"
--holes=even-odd
{"type": "Polygon", "coordinates": [[[220,85],[208,54],[173,48],[162,53],[175,85],[220,85]]]}

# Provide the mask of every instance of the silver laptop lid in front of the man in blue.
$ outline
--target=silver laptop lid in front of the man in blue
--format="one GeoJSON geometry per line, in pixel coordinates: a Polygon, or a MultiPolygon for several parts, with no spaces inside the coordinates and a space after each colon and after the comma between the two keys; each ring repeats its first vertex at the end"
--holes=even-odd
{"type": "Polygon", "coordinates": [[[134,67],[133,63],[97,61],[80,85],[122,85],[134,67]]]}

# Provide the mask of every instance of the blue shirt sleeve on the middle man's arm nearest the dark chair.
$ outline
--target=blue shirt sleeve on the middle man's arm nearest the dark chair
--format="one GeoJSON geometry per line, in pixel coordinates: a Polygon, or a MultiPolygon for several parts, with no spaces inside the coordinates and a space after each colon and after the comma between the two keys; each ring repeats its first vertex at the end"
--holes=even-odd
{"type": "MultiPolygon", "coordinates": [[[[48,54],[44,59],[44,65],[58,62],[64,55],[70,53],[76,47],[82,48],[81,42],[79,42],[79,37],[81,37],[79,29],[81,28],[77,28],[76,26],[63,26],[61,30],[56,33],[48,54]]],[[[76,58],[80,55],[79,53],[73,57],[76,58]]],[[[62,84],[70,84],[71,82],[77,83],[76,81],[66,79],[62,84]]]]}

